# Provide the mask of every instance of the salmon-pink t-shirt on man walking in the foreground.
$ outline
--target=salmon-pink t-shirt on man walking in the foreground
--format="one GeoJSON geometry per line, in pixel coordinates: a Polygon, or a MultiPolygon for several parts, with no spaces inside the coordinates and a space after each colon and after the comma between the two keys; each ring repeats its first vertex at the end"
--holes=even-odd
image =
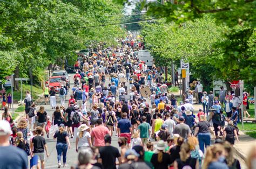
{"type": "Polygon", "coordinates": [[[109,134],[109,129],[103,125],[92,129],[91,137],[94,137],[94,146],[105,146],[104,137],[109,134]]]}

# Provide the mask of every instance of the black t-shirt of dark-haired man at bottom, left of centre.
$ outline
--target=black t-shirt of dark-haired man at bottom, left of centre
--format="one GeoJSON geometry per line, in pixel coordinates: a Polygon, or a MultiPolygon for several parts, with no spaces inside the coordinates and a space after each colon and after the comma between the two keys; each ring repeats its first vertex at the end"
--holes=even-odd
{"type": "Polygon", "coordinates": [[[104,169],[116,168],[116,158],[121,157],[118,149],[113,146],[104,146],[99,149],[104,169]]]}

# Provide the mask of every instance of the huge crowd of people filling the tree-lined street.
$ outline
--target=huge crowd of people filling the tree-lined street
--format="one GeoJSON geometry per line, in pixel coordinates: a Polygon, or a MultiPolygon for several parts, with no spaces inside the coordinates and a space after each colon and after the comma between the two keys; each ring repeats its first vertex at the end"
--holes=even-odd
{"type": "MultiPolygon", "coordinates": [[[[61,86],[60,106],[52,97],[57,95],[55,89],[45,87],[45,104],[50,96],[55,109],[52,117],[44,106],[36,110],[29,91],[26,117],[17,126],[11,121],[8,107],[4,107],[0,168],[28,168],[26,156],[37,157],[37,168],[44,168],[45,154],[49,157],[45,137],[51,136],[54,125],[58,126],[53,132],[58,167],[67,166],[70,139],[75,139],[78,162],[71,168],[241,168],[233,156],[233,145],[239,140],[238,97],[232,94],[231,98],[228,93],[223,98],[220,92],[219,98],[214,98],[198,81],[195,92],[203,108],[195,115],[192,91],[178,104],[173,94],[168,97],[163,70],[138,60],[143,43],[133,36],[119,42],[121,47],[98,48],[76,61],[75,85],[70,89],[61,86]],[[147,86],[152,94],[143,97],[140,91],[147,86]],[[65,103],[68,93],[71,95],[65,103]],[[212,127],[216,138],[213,143],[212,127]],[[114,135],[119,149],[111,145],[114,135]],[[12,155],[7,157],[2,152],[12,155]]],[[[251,161],[255,160],[255,149],[251,156],[251,161]]]]}

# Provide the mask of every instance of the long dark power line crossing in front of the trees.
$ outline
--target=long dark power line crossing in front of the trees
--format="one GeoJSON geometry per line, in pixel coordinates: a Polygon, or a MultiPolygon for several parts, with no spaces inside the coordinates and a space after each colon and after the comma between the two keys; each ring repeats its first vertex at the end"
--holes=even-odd
{"type": "Polygon", "coordinates": [[[111,26],[111,25],[129,25],[129,24],[136,24],[136,23],[143,23],[143,22],[150,22],[154,19],[146,19],[138,22],[128,22],[128,23],[114,23],[114,24],[103,24],[103,25],[92,25],[92,26],[82,26],[82,27],[71,27],[71,28],[61,28],[61,29],[48,29],[48,30],[32,30],[32,31],[14,31],[14,32],[0,32],[1,34],[8,34],[8,33],[29,33],[29,32],[49,32],[49,31],[61,31],[61,30],[76,30],[76,29],[85,29],[85,28],[92,28],[92,27],[102,27],[102,26],[111,26]]]}

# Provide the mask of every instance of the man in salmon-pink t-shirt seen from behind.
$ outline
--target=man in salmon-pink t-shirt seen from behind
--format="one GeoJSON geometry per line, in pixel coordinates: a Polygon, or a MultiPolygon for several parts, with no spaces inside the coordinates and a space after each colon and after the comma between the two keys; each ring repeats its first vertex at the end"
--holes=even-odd
{"type": "Polygon", "coordinates": [[[97,119],[95,128],[91,132],[91,142],[93,146],[103,147],[104,137],[109,134],[109,129],[103,126],[103,121],[101,118],[97,119]]]}

